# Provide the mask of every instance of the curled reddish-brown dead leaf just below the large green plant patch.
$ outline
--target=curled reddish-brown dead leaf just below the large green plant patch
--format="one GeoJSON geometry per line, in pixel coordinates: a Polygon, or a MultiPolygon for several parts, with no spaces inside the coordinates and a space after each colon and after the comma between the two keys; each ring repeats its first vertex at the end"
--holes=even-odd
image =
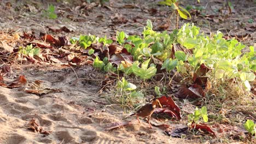
{"type": "Polygon", "coordinates": [[[205,97],[205,92],[203,91],[202,87],[199,85],[192,85],[191,87],[187,88],[187,86],[183,85],[179,87],[178,92],[173,93],[174,97],[179,99],[197,99],[201,97],[205,97]]]}

